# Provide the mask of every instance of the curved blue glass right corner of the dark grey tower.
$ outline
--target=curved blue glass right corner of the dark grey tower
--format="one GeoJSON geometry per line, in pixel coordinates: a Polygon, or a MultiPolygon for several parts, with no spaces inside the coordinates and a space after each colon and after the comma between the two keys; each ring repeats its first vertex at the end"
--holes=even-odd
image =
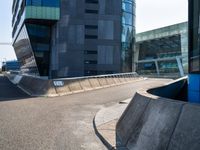
{"type": "Polygon", "coordinates": [[[132,55],[135,42],[135,1],[122,0],[122,72],[132,71],[132,55]]]}

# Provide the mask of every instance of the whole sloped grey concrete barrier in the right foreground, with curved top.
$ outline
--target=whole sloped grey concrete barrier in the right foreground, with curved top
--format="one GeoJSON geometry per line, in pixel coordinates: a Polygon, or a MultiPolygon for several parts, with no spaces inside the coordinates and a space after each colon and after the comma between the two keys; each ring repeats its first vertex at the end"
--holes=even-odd
{"type": "Polygon", "coordinates": [[[117,123],[117,147],[199,150],[199,118],[200,105],[154,96],[141,90],[117,123]]]}

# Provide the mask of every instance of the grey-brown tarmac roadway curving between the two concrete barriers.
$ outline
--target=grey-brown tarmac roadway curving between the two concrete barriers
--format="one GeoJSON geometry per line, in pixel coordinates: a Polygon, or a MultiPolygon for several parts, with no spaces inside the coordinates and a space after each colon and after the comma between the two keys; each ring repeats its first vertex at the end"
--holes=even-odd
{"type": "Polygon", "coordinates": [[[147,79],[55,98],[31,98],[0,77],[0,150],[104,150],[93,119],[104,107],[133,97],[147,79]]]}

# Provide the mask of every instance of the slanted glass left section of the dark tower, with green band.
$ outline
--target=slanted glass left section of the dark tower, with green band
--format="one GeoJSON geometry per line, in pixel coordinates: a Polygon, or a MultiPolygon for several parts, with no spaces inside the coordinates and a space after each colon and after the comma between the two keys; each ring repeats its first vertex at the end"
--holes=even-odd
{"type": "Polygon", "coordinates": [[[13,46],[24,73],[49,76],[51,27],[59,6],[60,0],[13,2],[13,46]]]}

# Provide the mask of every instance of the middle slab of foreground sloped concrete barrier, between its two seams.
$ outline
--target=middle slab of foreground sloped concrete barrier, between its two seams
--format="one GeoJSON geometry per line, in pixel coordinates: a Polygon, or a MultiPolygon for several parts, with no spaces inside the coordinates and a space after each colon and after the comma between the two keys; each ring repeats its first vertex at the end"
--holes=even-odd
{"type": "MultiPolygon", "coordinates": [[[[181,103],[167,100],[150,101],[132,132],[128,133],[127,148],[136,150],[167,149],[179,117],[181,103]]],[[[129,126],[131,124],[127,124],[129,126]]]]}

